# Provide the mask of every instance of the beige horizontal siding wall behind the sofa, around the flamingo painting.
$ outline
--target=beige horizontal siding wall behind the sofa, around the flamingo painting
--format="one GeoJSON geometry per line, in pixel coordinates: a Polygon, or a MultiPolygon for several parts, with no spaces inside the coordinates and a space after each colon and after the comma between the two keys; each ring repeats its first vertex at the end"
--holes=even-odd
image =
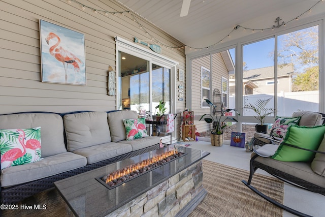
{"type": "MultiPolygon", "coordinates": [[[[113,0],[78,2],[104,11],[127,10],[113,0]]],[[[105,16],[89,8],[81,10],[80,5],[68,4],[66,0],[2,0],[0,11],[0,114],[115,110],[116,98],[107,95],[108,67],[116,69],[114,36],[130,42],[134,37],[149,40],[129,18],[130,14],[105,16]],[[86,86],[41,82],[39,19],[85,34],[86,86]]],[[[161,43],[182,45],[163,30],[134,16],[161,43]]],[[[177,69],[185,71],[183,49],[162,47],[161,54],[178,61],[177,69]]],[[[178,111],[183,110],[185,101],[175,101],[178,111]]]]}

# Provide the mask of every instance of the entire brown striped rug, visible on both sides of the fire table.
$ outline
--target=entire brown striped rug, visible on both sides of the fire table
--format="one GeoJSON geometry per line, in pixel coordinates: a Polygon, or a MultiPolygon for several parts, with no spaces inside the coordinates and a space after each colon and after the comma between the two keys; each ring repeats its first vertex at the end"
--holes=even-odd
{"type": "MultiPolygon", "coordinates": [[[[241,180],[249,172],[242,169],[203,161],[203,185],[207,195],[189,216],[282,216],[282,209],[254,194],[241,180]]],[[[283,182],[273,177],[256,174],[252,184],[258,190],[283,202],[283,182]]],[[[66,203],[55,190],[41,192],[18,203],[18,210],[0,210],[0,216],[66,216],[66,203]],[[35,204],[46,209],[35,210],[35,204]],[[32,206],[31,210],[21,205],[32,206]]]]}

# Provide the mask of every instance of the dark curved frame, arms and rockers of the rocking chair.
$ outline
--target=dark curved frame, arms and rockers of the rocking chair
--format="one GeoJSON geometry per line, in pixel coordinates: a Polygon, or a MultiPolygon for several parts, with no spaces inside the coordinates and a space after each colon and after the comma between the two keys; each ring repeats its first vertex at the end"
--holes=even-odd
{"type": "MultiPolygon", "coordinates": [[[[269,139],[269,138],[268,138],[269,139]]],[[[272,139],[270,139],[272,140],[272,139]]],[[[277,140],[272,140],[271,141],[273,144],[279,144],[279,141],[277,140]]],[[[286,144],[286,143],[281,143],[283,145],[287,145],[287,146],[290,146],[290,147],[294,147],[294,148],[299,148],[299,149],[303,149],[303,150],[307,150],[307,151],[312,151],[314,153],[321,153],[321,154],[325,154],[325,152],[322,152],[322,151],[316,151],[316,150],[310,150],[310,149],[306,149],[306,148],[301,148],[301,147],[297,147],[295,145],[291,145],[291,144],[286,144]]],[[[263,164],[261,162],[257,162],[256,159],[257,158],[266,158],[266,157],[271,157],[271,156],[262,156],[262,155],[259,155],[258,154],[258,151],[256,151],[258,149],[259,146],[263,146],[264,144],[261,144],[261,141],[258,140],[258,137],[255,138],[253,141],[252,141],[252,151],[255,152],[255,154],[251,157],[250,159],[250,162],[249,162],[249,178],[248,178],[248,181],[246,180],[242,180],[242,182],[250,189],[252,190],[254,193],[256,193],[257,195],[261,196],[262,198],[264,198],[265,200],[269,201],[270,203],[290,212],[290,213],[293,213],[297,216],[303,216],[303,217],[307,217],[307,216],[310,216],[308,214],[305,214],[305,213],[302,213],[298,210],[295,210],[295,209],[292,209],[288,206],[285,206],[283,205],[282,203],[279,203],[278,201],[268,197],[267,195],[263,194],[262,192],[258,191],[257,189],[255,189],[252,185],[251,185],[251,181],[252,181],[252,178],[253,178],[253,175],[255,173],[255,171],[259,168],[259,169],[262,169],[266,172],[268,172],[269,174],[273,175],[274,177],[288,183],[288,184],[291,184],[291,185],[294,185],[295,187],[297,188],[300,188],[300,189],[304,189],[304,190],[308,190],[308,191],[311,191],[311,192],[315,192],[315,193],[319,193],[321,195],[324,195],[325,196],[325,189],[316,185],[316,184],[313,184],[313,183],[310,183],[308,182],[307,180],[303,180],[301,178],[298,178],[296,176],[293,176],[293,175],[290,175],[290,174],[287,174],[285,172],[282,172],[278,169],[275,169],[269,165],[266,165],[266,164],[263,164]]],[[[276,161],[276,160],[274,160],[276,161]]],[[[325,177],[324,178],[324,181],[325,181],[325,177]]]]}

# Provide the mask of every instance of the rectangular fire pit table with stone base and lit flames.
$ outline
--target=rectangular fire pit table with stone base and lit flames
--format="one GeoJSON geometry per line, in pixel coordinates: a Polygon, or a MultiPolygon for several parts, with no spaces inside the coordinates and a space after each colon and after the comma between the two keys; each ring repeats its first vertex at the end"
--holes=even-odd
{"type": "Polygon", "coordinates": [[[201,167],[202,159],[209,154],[170,145],[54,185],[66,201],[67,211],[75,216],[182,216],[206,195],[201,167]],[[170,156],[166,157],[166,153],[170,156]],[[141,168],[134,168],[136,165],[141,168]]]}

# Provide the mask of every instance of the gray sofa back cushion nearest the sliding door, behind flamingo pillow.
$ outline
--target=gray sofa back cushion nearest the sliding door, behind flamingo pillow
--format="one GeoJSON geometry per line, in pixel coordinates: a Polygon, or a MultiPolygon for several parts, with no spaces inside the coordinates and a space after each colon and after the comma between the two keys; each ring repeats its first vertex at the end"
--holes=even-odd
{"type": "Polygon", "coordinates": [[[126,132],[123,119],[136,119],[136,111],[114,111],[107,114],[107,121],[110,126],[112,142],[126,140],[126,132]]]}

